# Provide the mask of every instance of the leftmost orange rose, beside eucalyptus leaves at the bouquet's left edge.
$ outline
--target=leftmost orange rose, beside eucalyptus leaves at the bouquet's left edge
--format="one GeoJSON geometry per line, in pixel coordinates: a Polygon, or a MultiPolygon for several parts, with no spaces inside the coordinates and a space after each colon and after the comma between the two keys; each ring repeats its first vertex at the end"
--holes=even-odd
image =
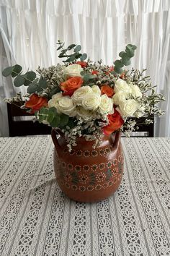
{"type": "Polygon", "coordinates": [[[48,106],[48,100],[45,97],[39,97],[37,94],[33,93],[24,106],[31,108],[32,113],[35,113],[35,111],[40,110],[42,106],[48,106]]]}

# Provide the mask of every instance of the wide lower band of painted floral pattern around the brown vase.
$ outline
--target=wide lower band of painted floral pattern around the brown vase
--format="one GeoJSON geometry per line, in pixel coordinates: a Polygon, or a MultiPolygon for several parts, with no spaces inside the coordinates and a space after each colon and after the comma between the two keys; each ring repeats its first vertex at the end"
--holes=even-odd
{"type": "MultiPolygon", "coordinates": [[[[87,190],[100,190],[111,187],[122,179],[123,156],[119,156],[109,163],[85,164],[79,166],[73,163],[61,161],[58,157],[56,168],[58,169],[57,179],[63,187],[81,192],[87,190]]],[[[88,159],[87,159],[88,162],[88,159]]]]}

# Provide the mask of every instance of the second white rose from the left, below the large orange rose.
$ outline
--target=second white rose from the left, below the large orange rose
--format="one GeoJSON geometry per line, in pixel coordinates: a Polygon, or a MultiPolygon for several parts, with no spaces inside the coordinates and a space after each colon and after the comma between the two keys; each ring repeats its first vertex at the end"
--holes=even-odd
{"type": "Polygon", "coordinates": [[[73,105],[73,100],[69,96],[59,98],[57,105],[58,114],[66,114],[68,116],[76,116],[76,107],[73,105]]]}

